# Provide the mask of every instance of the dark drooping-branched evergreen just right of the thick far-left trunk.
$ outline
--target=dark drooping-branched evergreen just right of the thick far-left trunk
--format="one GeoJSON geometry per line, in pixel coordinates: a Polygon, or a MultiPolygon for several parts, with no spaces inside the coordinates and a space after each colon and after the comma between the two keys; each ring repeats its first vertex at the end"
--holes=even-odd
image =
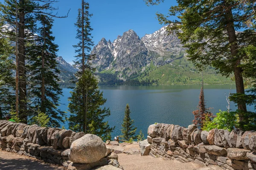
{"type": "Polygon", "coordinates": [[[38,15],[41,27],[38,28],[38,35],[35,44],[28,48],[28,59],[32,63],[29,68],[29,88],[31,101],[31,115],[37,116],[38,109],[49,117],[49,126],[58,127],[59,122],[64,122],[65,114],[58,109],[58,101],[62,90],[56,75],[60,73],[57,68],[56,52],[58,45],[54,44],[55,37],[52,36],[52,17],[43,14],[38,15]]]}

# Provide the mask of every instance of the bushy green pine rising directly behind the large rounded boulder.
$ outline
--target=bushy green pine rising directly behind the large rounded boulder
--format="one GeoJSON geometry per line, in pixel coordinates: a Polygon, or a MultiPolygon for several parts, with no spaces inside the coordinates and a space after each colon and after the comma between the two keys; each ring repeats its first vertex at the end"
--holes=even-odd
{"type": "Polygon", "coordinates": [[[68,110],[70,111],[69,128],[76,132],[86,129],[86,133],[95,134],[102,139],[110,139],[110,133],[114,127],[109,127],[104,122],[105,117],[110,116],[109,108],[102,108],[106,99],[103,92],[98,90],[98,81],[89,69],[84,71],[82,77],[76,83],[76,87],[70,92],[71,97],[68,110]],[[87,114],[84,116],[83,91],[87,96],[87,114]],[[87,127],[83,127],[86,125],[87,127]]]}

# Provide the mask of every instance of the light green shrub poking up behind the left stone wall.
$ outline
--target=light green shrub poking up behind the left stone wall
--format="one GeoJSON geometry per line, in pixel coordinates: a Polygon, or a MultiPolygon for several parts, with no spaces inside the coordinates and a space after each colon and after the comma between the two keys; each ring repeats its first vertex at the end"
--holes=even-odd
{"type": "Polygon", "coordinates": [[[39,110],[37,111],[37,113],[38,113],[37,116],[34,116],[29,120],[29,124],[30,125],[36,124],[41,127],[49,127],[50,118],[48,117],[48,115],[39,110]]]}

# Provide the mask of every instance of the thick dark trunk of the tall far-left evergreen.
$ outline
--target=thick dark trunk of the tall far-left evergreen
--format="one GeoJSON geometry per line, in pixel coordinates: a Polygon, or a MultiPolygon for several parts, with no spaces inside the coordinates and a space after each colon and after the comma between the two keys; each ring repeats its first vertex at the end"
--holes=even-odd
{"type": "Polygon", "coordinates": [[[18,31],[18,57],[19,57],[19,96],[20,96],[20,120],[27,123],[26,116],[26,69],[25,69],[25,13],[24,0],[20,0],[18,31]]]}

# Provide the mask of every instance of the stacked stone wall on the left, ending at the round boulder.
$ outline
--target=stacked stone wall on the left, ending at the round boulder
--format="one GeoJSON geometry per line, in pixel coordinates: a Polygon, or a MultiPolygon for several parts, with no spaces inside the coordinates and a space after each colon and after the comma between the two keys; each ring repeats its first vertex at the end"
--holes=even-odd
{"type": "Polygon", "coordinates": [[[2,150],[53,164],[69,161],[68,153],[72,142],[82,136],[84,136],[83,132],[76,133],[60,128],[0,121],[0,147],[2,150]]]}

